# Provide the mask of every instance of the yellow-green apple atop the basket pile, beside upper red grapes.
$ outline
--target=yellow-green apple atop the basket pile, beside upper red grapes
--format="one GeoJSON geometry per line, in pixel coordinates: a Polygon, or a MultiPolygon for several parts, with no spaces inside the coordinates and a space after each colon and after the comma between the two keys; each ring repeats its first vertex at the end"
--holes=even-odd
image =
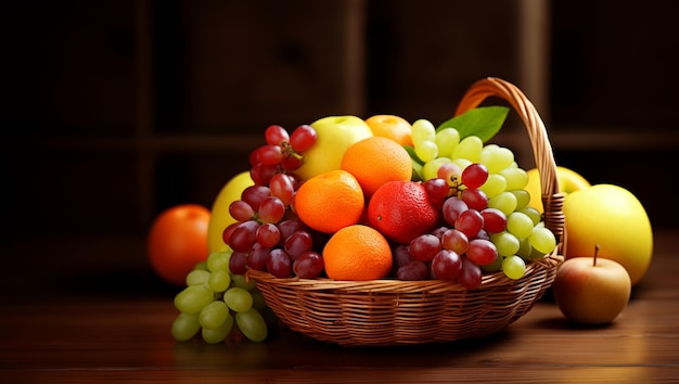
{"type": "Polygon", "coordinates": [[[311,123],[316,143],[302,153],[304,163],[295,174],[303,180],[340,169],[344,152],[354,143],[373,136],[370,126],[353,115],[328,116],[311,123]]]}

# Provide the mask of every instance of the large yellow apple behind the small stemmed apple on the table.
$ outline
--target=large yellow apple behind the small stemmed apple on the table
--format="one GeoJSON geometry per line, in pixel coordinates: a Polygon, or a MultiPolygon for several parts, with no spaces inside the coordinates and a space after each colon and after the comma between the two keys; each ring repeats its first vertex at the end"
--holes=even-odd
{"type": "Polygon", "coordinates": [[[595,184],[566,195],[564,256],[591,254],[599,244],[603,257],[619,263],[636,285],[653,255],[653,231],[645,209],[628,190],[595,184]]]}

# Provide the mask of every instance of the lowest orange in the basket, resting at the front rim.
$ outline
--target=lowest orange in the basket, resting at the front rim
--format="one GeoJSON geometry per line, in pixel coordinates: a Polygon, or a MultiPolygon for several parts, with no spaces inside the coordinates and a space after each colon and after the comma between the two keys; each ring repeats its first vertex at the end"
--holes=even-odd
{"type": "Polygon", "coordinates": [[[386,278],[393,264],[389,242],[374,228],[354,225],[335,232],[323,247],[328,277],[335,280],[386,278]]]}

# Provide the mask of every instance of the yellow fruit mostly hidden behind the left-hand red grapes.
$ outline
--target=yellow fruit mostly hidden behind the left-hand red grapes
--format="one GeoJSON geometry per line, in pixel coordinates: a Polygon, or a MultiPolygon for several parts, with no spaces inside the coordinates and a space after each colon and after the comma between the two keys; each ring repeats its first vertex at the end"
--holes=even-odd
{"type": "Polygon", "coordinates": [[[207,226],[207,246],[209,253],[222,251],[226,246],[221,234],[223,230],[235,222],[229,213],[229,205],[241,200],[241,193],[249,185],[254,185],[249,171],[242,171],[231,178],[217,194],[212,207],[212,215],[207,226]]]}

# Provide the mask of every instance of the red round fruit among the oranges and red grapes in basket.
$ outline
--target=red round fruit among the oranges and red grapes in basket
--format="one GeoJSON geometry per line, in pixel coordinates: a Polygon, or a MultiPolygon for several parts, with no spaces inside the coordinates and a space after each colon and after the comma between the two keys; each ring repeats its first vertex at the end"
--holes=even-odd
{"type": "Polygon", "coordinates": [[[399,244],[434,230],[440,219],[440,210],[415,181],[389,181],[368,204],[368,223],[399,244]]]}

